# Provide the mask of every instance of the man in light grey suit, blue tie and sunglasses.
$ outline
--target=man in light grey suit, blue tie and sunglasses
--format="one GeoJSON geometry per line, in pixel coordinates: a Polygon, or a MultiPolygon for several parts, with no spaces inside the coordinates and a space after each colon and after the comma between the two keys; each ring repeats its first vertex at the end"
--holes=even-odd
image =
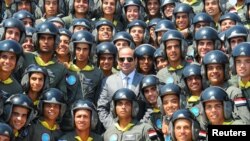
{"type": "Polygon", "coordinates": [[[134,91],[138,99],[140,97],[139,84],[143,75],[135,69],[137,60],[134,56],[134,50],[130,47],[120,49],[117,62],[120,71],[103,80],[102,90],[97,102],[99,118],[106,129],[114,123],[114,118],[110,112],[110,102],[118,89],[129,88],[134,91]]]}

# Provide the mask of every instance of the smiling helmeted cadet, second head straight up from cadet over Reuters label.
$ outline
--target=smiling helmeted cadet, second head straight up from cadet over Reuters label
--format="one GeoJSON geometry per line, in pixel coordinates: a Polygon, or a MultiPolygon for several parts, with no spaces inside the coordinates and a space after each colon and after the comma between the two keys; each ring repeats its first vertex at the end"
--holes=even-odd
{"type": "Polygon", "coordinates": [[[204,56],[211,50],[220,49],[221,44],[218,33],[214,28],[200,28],[194,35],[195,61],[201,64],[204,56]]]}

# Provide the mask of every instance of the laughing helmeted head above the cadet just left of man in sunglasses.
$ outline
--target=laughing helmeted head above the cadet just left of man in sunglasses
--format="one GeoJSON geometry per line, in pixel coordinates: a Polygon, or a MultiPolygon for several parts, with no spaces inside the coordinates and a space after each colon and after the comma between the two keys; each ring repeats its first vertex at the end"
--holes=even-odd
{"type": "Polygon", "coordinates": [[[93,35],[95,36],[95,41],[99,44],[112,41],[115,32],[115,27],[110,21],[100,20],[95,24],[93,35]]]}

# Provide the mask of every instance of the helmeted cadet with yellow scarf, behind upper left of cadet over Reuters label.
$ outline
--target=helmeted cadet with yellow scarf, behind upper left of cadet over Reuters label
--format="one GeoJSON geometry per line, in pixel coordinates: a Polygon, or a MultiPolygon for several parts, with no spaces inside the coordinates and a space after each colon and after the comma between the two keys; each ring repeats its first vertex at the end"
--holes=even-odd
{"type": "Polygon", "coordinates": [[[202,84],[201,66],[195,63],[190,64],[184,68],[182,75],[185,83],[185,92],[188,96],[187,108],[192,108],[199,104],[200,95],[204,88],[202,84]]]}

